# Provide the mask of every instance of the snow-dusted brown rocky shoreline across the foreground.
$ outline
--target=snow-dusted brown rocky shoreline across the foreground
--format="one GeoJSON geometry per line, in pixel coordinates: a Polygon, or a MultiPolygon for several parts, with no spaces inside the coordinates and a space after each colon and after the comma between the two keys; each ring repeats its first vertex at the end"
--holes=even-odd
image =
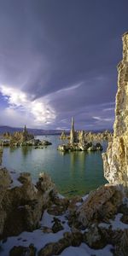
{"type": "Polygon", "coordinates": [[[107,255],[127,253],[128,203],[118,186],[107,184],[69,200],[58,195],[45,173],[32,184],[29,173],[18,175],[1,166],[0,192],[4,256],[60,255],[70,247],[80,255],[81,246],[95,255],[99,250],[101,255],[104,250],[107,255]]]}

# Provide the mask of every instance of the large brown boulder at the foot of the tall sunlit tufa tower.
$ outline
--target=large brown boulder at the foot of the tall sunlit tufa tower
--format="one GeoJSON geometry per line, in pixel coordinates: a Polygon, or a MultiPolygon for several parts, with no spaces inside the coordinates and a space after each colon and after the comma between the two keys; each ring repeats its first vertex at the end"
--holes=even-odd
{"type": "Polygon", "coordinates": [[[102,186],[90,192],[86,201],[79,207],[77,211],[79,222],[84,226],[98,221],[108,222],[118,211],[121,203],[122,194],[116,187],[102,186]]]}

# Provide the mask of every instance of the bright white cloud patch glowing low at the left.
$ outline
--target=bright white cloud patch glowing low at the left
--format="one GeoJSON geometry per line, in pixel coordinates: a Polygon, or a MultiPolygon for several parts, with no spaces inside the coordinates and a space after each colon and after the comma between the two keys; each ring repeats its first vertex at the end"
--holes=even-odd
{"type": "Polygon", "coordinates": [[[55,120],[55,110],[49,105],[47,97],[32,100],[34,96],[6,85],[0,85],[0,92],[9,104],[4,109],[4,114],[12,119],[15,117],[15,122],[20,123],[20,120],[16,119],[16,117],[19,117],[24,122],[26,120],[28,125],[39,127],[41,125],[49,125],[55,120]]]}

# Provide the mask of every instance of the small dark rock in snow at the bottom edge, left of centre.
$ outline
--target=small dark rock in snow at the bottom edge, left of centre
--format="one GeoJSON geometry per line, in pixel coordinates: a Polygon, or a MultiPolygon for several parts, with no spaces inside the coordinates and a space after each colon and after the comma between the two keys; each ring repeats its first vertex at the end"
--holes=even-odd
{"type": "Polygon", "coordinates": [[[9,256],[36,256],[36,248],[32,244],[29,247],[13,247],[9,256]]]}

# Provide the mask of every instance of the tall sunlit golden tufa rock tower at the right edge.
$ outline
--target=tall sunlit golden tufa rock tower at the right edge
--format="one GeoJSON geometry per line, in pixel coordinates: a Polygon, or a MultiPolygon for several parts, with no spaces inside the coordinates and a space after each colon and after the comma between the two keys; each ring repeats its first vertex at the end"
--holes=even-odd
{"type": "Polygon", "coordinates": [[[128,188],[128,32],[123,35],[123,60],[118,65],[113,142],[102,154],[104,176],[109,183],[128,188]]]}

